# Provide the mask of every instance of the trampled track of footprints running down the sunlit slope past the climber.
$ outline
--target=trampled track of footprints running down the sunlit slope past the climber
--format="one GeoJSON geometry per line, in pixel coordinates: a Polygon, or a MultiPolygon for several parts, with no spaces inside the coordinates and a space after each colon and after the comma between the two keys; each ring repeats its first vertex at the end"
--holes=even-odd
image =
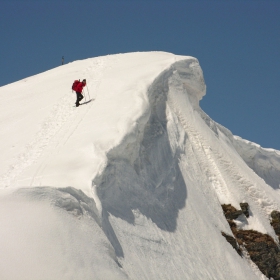
{"type": "MultiPolygon", "coordinates": [[[[92,86],[92,91],[96,92],[96,89],[101,82],[102,70],[104,70],[107,65],[106,60],[107,59],[102,57],[93,60],[92,65],[86,68],[83,72],[83,75],[95,77],[93,82],[90,82],[89,84],[92,85],[94,82],[96,83],[95,86],[92,86]]],[[[88,104],[88,108],[79,108],[79,110],[77,110],[77,108],[73,107],[73,103],[73,96],[71,96],[69,92],[57,101],[51,109],[49,117],[41,125],[35,139],[26,145],[24,152],[14,158],[14,163],[10,165],[8,170],[0,177],[0,188],[12,186],[13,183],[15,183],[16,178],[27,167],[39,159],[44,150],[49,146],[55,135],[57,135],[61,129],[71,129],[71,123],[68,122],[67,126],[64,125],[71,119],[72,116],[76,116],[79,119],[75,128],[72,128],[73,132],[76,130],[92,104],[88,104]]]]}

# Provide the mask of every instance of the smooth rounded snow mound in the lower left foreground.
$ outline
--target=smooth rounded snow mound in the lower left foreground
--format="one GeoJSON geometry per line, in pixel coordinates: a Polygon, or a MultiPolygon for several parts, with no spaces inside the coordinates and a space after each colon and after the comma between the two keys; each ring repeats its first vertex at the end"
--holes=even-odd
{"type": "Polygon", "coordinates": [[[21,189],[2,195],[0,278],[127,279],[93,205],[71,188],[21,189]]]}

